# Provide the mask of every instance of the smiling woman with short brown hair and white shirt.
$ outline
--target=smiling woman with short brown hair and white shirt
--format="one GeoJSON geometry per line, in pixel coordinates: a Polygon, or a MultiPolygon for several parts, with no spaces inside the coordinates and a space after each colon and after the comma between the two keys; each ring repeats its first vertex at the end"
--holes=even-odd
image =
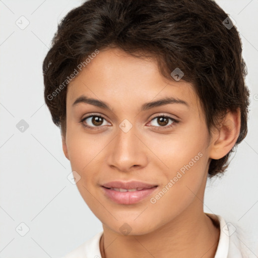
{"type": "Polygon", "coordinates": [[[90,0],[63,18],[45,101],[103,225],[66,257],[247,255],[235,226],[203,211],[207,177],[247,133],[241,51],[210,0],[90,0]]]}

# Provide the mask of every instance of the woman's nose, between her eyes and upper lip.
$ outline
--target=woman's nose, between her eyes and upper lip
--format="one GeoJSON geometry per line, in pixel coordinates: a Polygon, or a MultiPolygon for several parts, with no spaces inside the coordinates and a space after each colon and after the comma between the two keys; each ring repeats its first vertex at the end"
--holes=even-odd
{"type": "Polygon", "coordinates": [[[109,145],[108,165],[123,172],[145,167],[148,164],[148,148],[141,134],[136,132],[135,126],[128,131],[121,128],[118,128],[116,137],[109,145]]]}

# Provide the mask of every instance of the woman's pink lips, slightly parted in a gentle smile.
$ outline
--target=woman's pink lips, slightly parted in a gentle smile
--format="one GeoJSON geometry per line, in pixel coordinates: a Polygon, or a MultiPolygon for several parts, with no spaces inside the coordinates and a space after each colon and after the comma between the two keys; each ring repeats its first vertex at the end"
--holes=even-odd
{"type": "Polygon", "coordinates": [[[117,204],[136,204],[150,196],[158,185],[140,181],[113,181],[102,185],[104,195],[117,204]]]}

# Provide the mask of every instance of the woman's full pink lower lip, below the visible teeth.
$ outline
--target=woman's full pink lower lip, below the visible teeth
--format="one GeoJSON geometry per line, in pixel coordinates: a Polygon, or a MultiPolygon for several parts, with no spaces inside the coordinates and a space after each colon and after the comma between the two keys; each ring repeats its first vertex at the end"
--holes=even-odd
{"type": "Polygon", "coordinates": [[[157,186],[140,191],[115,191],[104,186],[101,188],[105,191],[105,195],[117,204],[136,204],[151,195],[157,186]]]}

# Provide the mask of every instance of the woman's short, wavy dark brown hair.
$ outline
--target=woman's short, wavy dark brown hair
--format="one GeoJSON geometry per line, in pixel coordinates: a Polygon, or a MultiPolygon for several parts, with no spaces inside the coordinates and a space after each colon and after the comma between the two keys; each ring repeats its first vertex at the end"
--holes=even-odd
{"type": "MultiPolygon", "coordinates": [[[[241,40],[225,19],[212,0],[90,0],[71,10],[58,24],[43,61],[44,97],[53,122],[65,135],[67,78],[78,64],[96,49],[118,47],[156,58],[167,78],[174,69],[182,70],[201,100],[209,133],[219,117],[240,108],[235,148],[247,134],[249,90],[241,40]]],[[[211,160],[209,177],[225,171],[233,149],[211,160]]]]}

